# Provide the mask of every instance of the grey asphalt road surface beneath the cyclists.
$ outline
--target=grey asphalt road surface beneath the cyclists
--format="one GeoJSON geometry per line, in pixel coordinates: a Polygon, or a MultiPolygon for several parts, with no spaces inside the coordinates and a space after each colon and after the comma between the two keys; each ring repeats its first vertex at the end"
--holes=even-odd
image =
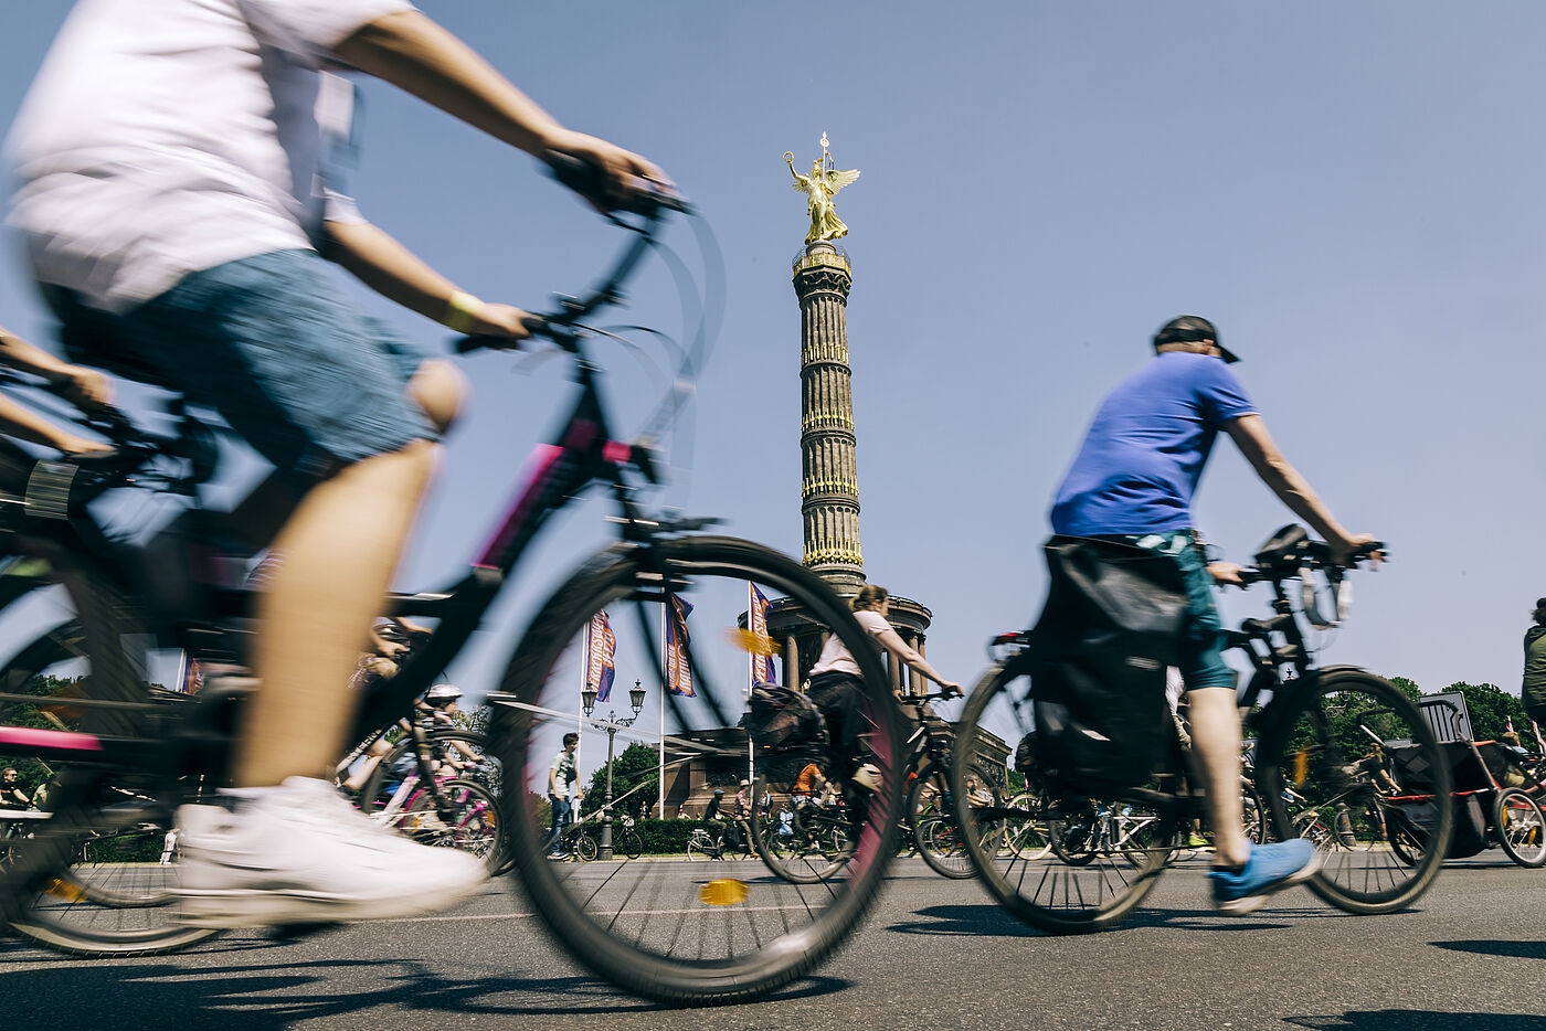
{"type": "Polygon", "coordinates": [[[1050,938],[974,881],[900,863],[819,975],[758,1003],[669,1009],[581,974],[498,884],[442,917],[295,941],[229,934],[172,957],[74,960],[0,938],[0,1012],[63,1028],[1314,1028],[1546,1031],[1546,870],[1452,863],[1411,912],[1348,917],[1291,889],[1215,917],[1172,870],[1122,927],[1050,938]]]}

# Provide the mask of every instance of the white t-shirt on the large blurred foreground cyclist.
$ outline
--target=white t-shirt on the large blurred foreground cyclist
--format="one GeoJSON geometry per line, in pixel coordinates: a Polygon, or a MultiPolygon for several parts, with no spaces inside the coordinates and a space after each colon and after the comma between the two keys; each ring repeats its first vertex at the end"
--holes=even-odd
{"type": "MultiPolygon", "coordinates": [[[[127,311],[189,272],[314,249],[331,49],[408,0],[80,0],[6,141],[42,283],[127,311]]],[[[348,83],[343,83],[348,88],[348,83]]],[[[352,96],[352,93],[351,93],[352,96]]],[[[346,131],[346,130],[343,130],[346,131]]]]}

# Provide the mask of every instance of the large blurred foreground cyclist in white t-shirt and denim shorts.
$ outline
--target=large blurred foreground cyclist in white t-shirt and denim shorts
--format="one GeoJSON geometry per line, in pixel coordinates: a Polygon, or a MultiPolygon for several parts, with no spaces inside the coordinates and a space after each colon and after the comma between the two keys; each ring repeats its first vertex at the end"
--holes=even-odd
{"type": "Polygon", "coordinates": [[[524,312],[456,289],[359,216],[332,161],[349,91],[326,71],[377,76],[512,147],[597,167],[597,207],[663,181],[560,125],[408,0],[80,0],[70,12],[6,144],[9,221],[66,349],[216,407],[289,492],[237,790],[178,815],[195,926],[408,917],[484,876],[470,856],[383,836],[323,779],[352,716],[343,685],[462,393],[360,312],[328,263],[512,346],[524,312]]]}

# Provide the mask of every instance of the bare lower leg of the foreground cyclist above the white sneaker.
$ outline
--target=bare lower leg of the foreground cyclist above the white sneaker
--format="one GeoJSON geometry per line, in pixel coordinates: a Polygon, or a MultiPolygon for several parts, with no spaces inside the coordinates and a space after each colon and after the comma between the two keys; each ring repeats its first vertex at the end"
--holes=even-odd
{"type": "Polygon", "coordinates": [[[382,607],[438,450],[416,441],[340,470],[300,499],[275,538],[286,563],[258,603],[254,672],[263,686],[237,742],[235,787],[332,770],[354,713],[343,685],[382,607]]]}

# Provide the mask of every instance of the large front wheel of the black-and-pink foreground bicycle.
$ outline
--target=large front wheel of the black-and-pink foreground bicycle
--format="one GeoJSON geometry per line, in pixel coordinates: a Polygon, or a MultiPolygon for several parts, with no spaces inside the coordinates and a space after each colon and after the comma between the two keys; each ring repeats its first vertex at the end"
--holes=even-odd
{"type": "MultiPolygon", "coordinates": [[[[793,669],[782,679],[799,683],[793,669]]],[[[873,903],[897,849],[901,815],[898,713],[866,632],[843,600],[799,563],[716,536],[603,552],[538,612],[502,692],[490,702],[492,737],[510,778],[502,796],[507,833],[527,900],[595,974],[663,1002],[745,1000],[818,966],[873,903]],[[688,801],[693,784],[730,785],[747,776],[747,737],[737,723],[748,652],[770,651],[744,624],[748,586],[781,598],[773,603],[778,611],[829,628],[863,671],[856,706],[869,730],[864,759],[880,768],[881,787],[846,787],[844,808],[858,815],[849,819],[860,833],[856,842],[846,842],[850,855],[841,870],[805,886],[768,876],[758,859],[711,867],[538,861],[543,835],[533,790],[546,784],[561,737],[577,728],[587,765],[609,754],[608,734],[615,736],[617,791],[645,785],[646,796],[656,793],[663,767],[668,804],[679,804],[688,801]],[[629,679],[648,679],[637,725],[620,725],[611,713],[603,720],[604,699],[592,720],[577,711],[575,685],[589,677],[587,655],[595,655],[597,641],[629,679]]],[[[758,757],[758,765],[779,759],[758,757]]],[[[782,768],[767,773],[785,779],[782,768]]]]}

